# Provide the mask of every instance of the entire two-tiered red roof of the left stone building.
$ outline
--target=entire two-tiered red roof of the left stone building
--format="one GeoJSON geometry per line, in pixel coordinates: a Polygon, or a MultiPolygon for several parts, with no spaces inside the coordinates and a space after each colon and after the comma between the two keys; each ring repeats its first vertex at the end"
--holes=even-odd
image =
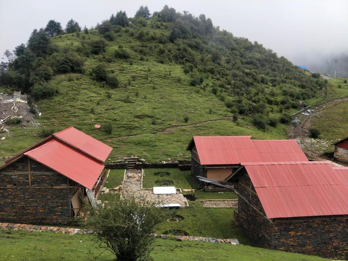
{"type": "Polygon", "coordinates": [[[26,155],[69,179],[92,189],[112,148],[69,127],[48,136],[5,161],[0,169],[26,155]]]}

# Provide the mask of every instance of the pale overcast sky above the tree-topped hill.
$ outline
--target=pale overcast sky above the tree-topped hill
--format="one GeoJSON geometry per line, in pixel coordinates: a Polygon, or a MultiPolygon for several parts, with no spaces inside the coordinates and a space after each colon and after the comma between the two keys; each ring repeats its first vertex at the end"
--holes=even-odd
{"type": "Polygon", "coordinates": [[[118,10],[133,17],[140,5],[152,13],[165,4],[181,13],[205,14],[221,30],[256,40],[295,64],[348,52],[348,0],[0,0],[1,57],[5,49],[26,43],[32,30],[45,27],[49,19],[65,27],[73,18],[90,27],[118,10]]]}

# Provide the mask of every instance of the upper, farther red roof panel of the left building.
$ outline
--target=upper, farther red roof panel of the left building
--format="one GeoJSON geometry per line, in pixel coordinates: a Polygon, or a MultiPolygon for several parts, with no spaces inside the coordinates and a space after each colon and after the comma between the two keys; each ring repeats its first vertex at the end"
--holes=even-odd
{"type": "Polygon", "coordinates": [[[60,132],[54,133],[53,136],[102,162],[105,161],[112,150],[110,146],[94,139],[93,137],[72,126],[63,129],[60,132]]]}

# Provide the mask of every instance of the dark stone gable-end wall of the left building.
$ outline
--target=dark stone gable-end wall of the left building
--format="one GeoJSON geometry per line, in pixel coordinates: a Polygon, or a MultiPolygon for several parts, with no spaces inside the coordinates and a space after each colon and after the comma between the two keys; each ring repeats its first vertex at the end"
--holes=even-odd
{"type": "Polygon", "coordinates": [[[0,221],[61,224],[70,222],[72,189],[50,188],[66,185],[67,178],[34,160],[30,160],[30,172],[31,187],[27,157],[0,171],[0,221]]]}

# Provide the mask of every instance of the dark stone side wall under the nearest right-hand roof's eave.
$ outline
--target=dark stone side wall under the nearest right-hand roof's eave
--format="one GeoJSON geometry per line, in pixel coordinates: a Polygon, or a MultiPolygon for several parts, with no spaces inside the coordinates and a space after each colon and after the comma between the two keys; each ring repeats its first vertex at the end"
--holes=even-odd
{"type": "Polygon", "coordinates": [[[348,215],[274,219],[272,249],[348,259],[348,215]]]}

